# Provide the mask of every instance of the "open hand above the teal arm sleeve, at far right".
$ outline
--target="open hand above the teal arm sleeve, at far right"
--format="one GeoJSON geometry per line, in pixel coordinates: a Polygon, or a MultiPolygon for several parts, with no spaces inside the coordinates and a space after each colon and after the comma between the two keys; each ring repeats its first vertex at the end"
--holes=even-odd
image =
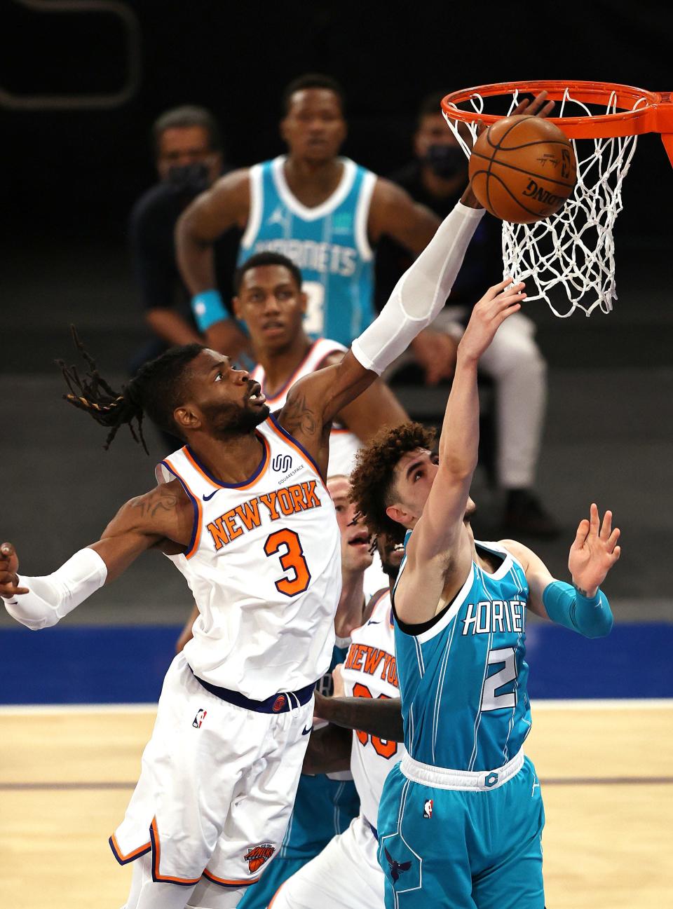
{"type": "Polygon", "coordinates": [[[579,522],[578,535],[568,556],[573,584],[583,596],[595,596],[606,574],[617,562],[621,554],[618,539],[619,528],[612,529],[612,512],[605,513],[601,525],[598,505],[592,503],[588,520],[584,518],[579,522]]]}

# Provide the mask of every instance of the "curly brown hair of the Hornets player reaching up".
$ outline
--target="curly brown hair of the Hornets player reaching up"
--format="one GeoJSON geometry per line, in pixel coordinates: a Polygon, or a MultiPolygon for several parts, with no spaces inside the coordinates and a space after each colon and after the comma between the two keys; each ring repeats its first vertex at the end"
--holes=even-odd
{"type": "Polygon", "coordinates": [[[431,449],[436,435],[434,429],[420,423],[403,423],[380,430],[357,453],[350,474],[350,498],[371,534],[387,534],[396,543],[404,540],[405,528],[386,514],[395,485],[395,468],[403,454],[417,448],[431,449]]]}

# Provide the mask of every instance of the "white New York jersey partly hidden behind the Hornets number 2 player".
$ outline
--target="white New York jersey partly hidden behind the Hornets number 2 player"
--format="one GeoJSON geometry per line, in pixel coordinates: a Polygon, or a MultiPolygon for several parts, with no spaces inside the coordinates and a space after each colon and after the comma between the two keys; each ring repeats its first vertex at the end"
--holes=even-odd
{"type": "MultiPolygon", "coordinates": [[[[348,697],[399,697],[390,593],[379,592],[372,614],[351,634],[343,669],[348,697]]],[[[404,744],[353,733],[350,770],[362,814],[377,825],[378,803],[387,774],[407,754],[404,744]]]]}

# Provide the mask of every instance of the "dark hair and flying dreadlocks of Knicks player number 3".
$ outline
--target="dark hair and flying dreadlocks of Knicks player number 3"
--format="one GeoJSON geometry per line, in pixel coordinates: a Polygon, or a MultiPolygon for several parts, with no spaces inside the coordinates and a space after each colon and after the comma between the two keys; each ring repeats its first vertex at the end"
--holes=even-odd
{"type": "Polygon", "coordinates": [[[205,349],[204,345],[171,347],[156,360],[141,366],[128,385],[124,385],[121,392],[116,392],[98,372],[94,358],[87,353],[75,331],[75,325],[71,325],[71,331],[88,372],[84,376],[79,375],[76,366],[67,366],[63,360],[56,360],[70,389],[70,394],[63,396],[70,404],[90,414],[96,423],[109,427],[105,449],[109,448],[119,427],[126,424],[134,441],[149,454],[143,435],[143,417],[146,414],[166,432],[181,435],[173,419],[173,412],[184,394],[185,383],[181,380],[186,365],[205,349]]]}

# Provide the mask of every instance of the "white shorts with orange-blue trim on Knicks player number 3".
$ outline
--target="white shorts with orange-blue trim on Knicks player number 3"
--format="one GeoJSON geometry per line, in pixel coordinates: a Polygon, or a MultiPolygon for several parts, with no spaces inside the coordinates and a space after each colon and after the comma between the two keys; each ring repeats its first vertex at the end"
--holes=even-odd
{"type": "Polygon", "coordinates": [[[117,861],[151,851],[155,881],[205,874],[225,887],[255,884],[283,842],[312,717],[313,697],[277,714],[229,704],[177,654],[136,791],[110,837],[117,861]]]}

